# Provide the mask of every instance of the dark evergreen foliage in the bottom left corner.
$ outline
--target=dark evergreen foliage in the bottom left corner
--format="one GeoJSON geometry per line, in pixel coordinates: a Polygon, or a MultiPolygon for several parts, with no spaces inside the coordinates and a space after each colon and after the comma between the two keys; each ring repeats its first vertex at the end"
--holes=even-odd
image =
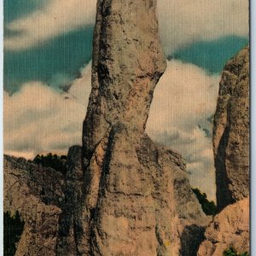
{"type": "Polygon", "coordinates": [[[3,255],[13,256],[16,252],[16,243],[20,241],[20,236],[24,230],[24,221],[20,218],[20,213],[15,212],[11,216],[10,212],[3,212],[3,255]]]}

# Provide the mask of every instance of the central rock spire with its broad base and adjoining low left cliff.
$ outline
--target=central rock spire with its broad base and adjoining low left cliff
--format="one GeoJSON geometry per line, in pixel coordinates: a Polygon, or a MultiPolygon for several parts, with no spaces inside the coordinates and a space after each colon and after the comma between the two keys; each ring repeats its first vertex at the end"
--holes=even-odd
{"type": "Polygon", "coordinates": [[[166,69],[156,0],[98,0],[83,148],[67,174],[5,157],[5,211],[25,220],[17,255],[195,255],[209,218],[182,157],[144,133],[166,69]]]}

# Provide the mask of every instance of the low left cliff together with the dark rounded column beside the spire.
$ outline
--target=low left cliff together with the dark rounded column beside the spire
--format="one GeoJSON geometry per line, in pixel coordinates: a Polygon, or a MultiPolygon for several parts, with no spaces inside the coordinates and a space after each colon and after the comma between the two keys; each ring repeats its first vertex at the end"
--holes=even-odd
{"type": "Polygon", "coordinates": [[[16,255],[78,255],[83,172],[81,147],[67,154],[64,176],[25,159],[4,156],[4,212],[20,212],[25,229],[16,255]],[[79,217],[78,217],[79,214],[79,217]]]}

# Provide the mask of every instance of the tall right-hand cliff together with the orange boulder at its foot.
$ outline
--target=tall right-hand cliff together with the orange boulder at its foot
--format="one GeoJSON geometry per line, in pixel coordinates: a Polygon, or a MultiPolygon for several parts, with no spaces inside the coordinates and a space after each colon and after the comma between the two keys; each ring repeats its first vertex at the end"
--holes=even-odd
{"type": "Polygon", "coordinates": [[[198,256],[230,247],[249,252],[249,47],[224,67],[214,116],[213,150],[218,215],[207,227],[198,256]]]}

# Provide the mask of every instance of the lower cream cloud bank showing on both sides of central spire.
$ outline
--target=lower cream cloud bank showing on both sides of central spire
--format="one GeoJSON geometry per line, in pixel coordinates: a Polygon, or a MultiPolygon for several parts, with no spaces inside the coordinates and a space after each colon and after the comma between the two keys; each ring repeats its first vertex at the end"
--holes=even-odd
{"type": "MultiPolygon", "coordinates": [[[[81,144],[82,123],[90,95],[91,63],[81,70],[68,93],[38,82],[4,93],[4,152],[32,158],[38,153],[67,154],[81,144]]],[[[154,90],[147,132],[155,142],[180,152],[188,163],[193,186],[215,197],[212,138],[208,117],[215,112],[218,77],[180,61],[168,61],[154,90]],[[198,125],[201,125],[201,129],[198,125]]]]}

